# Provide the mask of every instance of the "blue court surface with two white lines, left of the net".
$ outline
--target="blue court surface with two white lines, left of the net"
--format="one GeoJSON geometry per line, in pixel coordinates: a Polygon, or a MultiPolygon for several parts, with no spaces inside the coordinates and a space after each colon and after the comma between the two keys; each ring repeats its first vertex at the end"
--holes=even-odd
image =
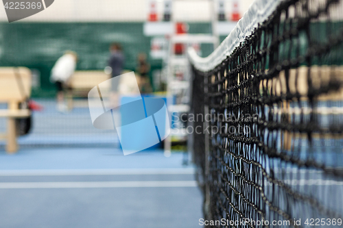
{"type": "Polygon", "coordinates": [[[193,172],[182,153],[0,151],[0,227],[199,227],[193,172]]]}

